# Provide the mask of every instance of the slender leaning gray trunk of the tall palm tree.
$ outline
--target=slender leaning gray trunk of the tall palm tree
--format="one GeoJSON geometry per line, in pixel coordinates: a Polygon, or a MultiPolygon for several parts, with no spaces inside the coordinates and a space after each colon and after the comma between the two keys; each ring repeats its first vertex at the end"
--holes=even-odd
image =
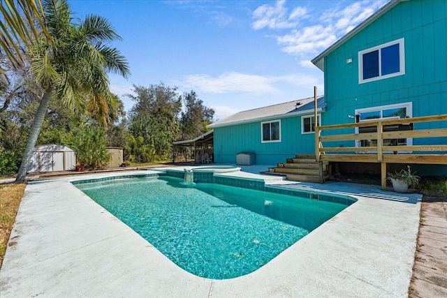
{"type": "Polygon", "coordinates": [[[52,94],[53,92],[51,88],[47,89],[43,94],[41,103],[39,104],[36,115],[34,116],[33,124],[31,125],[31,132],[29,133],[27,147],[25,147],[22,163],[20,163],[19,172],[17,173],[17,178],[15,179],[16,182],[22,182],[27,177],[29,161],[31,161],[34,146],[36,145],[39,133],[41,133],[43,119],[45,119],[45,114],[47,113],[47,108],[50,104],[52,94]]]}

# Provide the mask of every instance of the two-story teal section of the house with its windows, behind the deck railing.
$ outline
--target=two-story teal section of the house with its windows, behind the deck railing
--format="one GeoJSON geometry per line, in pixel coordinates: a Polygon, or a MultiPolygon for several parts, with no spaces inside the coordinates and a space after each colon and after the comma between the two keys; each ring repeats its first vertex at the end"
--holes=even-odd
{"type": "MultiPolygon", "coordinates": [[[[324,71],[328,111],[322,115],[323,126],[447,114],[447,1],[391,0],[312,62],[324,71]]],[[[367,130],[361,128],[360,133],[367,130]]],[[[417,145],[434,140],[389,142],[417,145]]],[[[342,145],[376,144],[359,140],[342,145]]]]}

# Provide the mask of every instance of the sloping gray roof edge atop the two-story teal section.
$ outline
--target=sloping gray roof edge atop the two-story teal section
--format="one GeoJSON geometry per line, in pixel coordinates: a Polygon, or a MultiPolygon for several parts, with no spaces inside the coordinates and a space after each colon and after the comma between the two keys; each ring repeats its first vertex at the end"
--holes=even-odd
{"type": "Polygon", "coordinates": [[[316,67],[320,68],[324,71],[324,57],[328,56],[332,51],[337,49],[340,45],[342,45],[346,40],[349,40],[349,38],[356,35],[358,32],[362,31],[365,27],[369,26],[372,22],[377,20],[379,17],[384,15],[388,12],[391,8],[395,7],[397,4],[399,4],[401,1],[409,1],[409,0],[390,0],[388,3],[386,3],[384,6],[382,6],[379,10],[377,10],[375,13],[370,15],[365,21],[358,24],[358,26],[348,33],[344,35],[342,38],[337,40],[334,44],[332,44],[330,47],[328,47],[324,52],[319,54],[317,57],[312,59],[312,63],[316,65],[316,67]]]}

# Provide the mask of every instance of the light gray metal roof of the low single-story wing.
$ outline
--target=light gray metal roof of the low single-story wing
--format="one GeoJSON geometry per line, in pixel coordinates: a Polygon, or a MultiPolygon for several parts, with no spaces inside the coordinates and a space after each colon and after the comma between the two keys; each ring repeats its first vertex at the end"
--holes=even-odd
{"type": "MultiPolygon", "coordinates": [[[[317,98],[317,110],[318,112],[321,112],[325,107],[324,96],[318,96],[317,98]]],[[[287,103],[278,103],[277,105],[269,105],[268,107],[258,107],[257,109],[238,112],[230,117],[214,122],[207,127],[230,126],[292,117],[300,114],[310,114],[311,112],[314,112],[314,105],[314,97],[292,100],[287,103]]]]}

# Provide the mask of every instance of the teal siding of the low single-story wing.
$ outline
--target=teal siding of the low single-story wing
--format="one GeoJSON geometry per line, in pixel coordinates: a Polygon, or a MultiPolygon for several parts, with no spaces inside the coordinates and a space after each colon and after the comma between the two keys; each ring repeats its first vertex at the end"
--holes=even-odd
{"type": "Polygon", "coordinates": [[[314,154],[314,134],[301,134],[300,116],[281,119],[281,142],[261,142],[261,121],[214,128],[216,163],[234,164],[241,152],[254,152],[258,165],[276,165],[295,154],[314,154]]]}

